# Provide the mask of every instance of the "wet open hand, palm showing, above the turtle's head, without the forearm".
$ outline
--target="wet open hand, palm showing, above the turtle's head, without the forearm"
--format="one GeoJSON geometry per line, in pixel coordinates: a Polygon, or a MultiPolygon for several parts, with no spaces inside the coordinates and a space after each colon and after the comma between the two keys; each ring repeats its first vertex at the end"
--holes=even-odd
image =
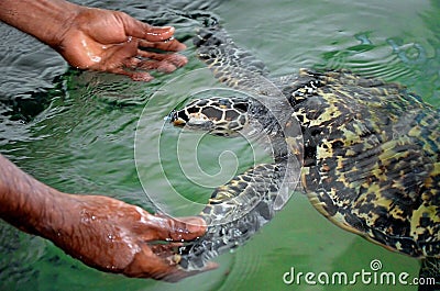
{"type": "Polygon", "coordinates": [[[172,38],[174,27],[155,27],[138,21],[123,12],[79,7],[50,45],[72,66],[114,74],[133,80],[150,81],[153,77],[135,69],[157,69],[172,72],[187,64],[184,56],[160,54],[140,47],[178,52],[185,45],[172,38]],[[142,58],[142,59],[141,59],[142,58]]]}

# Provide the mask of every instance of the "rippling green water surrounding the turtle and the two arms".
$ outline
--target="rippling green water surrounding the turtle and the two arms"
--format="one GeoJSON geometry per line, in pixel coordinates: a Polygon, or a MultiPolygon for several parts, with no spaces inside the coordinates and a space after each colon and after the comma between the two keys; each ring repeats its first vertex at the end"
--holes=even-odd
{"type": "MultiPolygon", "coordinates": [[[[349,68],[402,82],[440,107],[440,4],[435,0],[79,2],[175,25],[190,61],[172,75],[156,75],[151,83],[107,74],[63,75],[67,67],[55,53],[0,25],[0,150],[65,192],[105,194],[155,211],[147,192],[155,202],[161,200],[163,211],[195,214],[199,205],[184,208],[182,201],[206,201],[212,186],[254,163],[244,139],[180,135],[164,123],[194,87],[217,86],[204,74],[190,75],[191,82],[170,82],[204,67],[190,41],[198,22],[185,19],[196,10],[219,16],[237,44],[262,59],[273,76],[296,74],[301,67],[349,68]],[[44,107],[38,110],[36,104],[44,107]],[[220,155],[224,149],[232,154],[220,155]],[[200,176],[188,179],[187,172],[198,167],[200,176]],[[204,180],[204,175],[212,179],[204,180]]],[[[245,246],[218,258],[219,269],[177,284],[99,272],[40,237],[3,223],[0,232],[1,290],[417,289],[361,282],[285,284],[283,275],[292,267],[297,272],[351,275],[371,271],[373,259],[381,260],[383,271],[405,271],[409,278],[418,273],[417,260],[338,228],[299,193],[245,246]]]]}

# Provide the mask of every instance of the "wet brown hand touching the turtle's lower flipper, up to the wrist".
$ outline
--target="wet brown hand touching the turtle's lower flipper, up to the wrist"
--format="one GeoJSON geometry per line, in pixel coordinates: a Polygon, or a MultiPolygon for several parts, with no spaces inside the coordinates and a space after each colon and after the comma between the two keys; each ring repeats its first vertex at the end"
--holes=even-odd
{"type": "MultiPolygon", "coordinates": [[[[180,220],[152,215],[139,206],[99,195],[66,195],[54,212],[50,238],[86,265],[128,277],[178,281],[185,271],[169,259],[182,240],[204,235],[199,217],[180,220]],[[167,244],[154,244],[167,242],[167,244]]],[[[211,264],[204,270],[216,268],[211,264]]]]}

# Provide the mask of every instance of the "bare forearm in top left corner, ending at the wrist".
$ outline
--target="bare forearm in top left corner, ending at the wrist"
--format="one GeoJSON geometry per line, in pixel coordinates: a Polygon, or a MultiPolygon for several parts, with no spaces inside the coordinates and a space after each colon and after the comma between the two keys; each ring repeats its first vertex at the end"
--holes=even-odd
{"type": "Polygon", "coordinates": [[[0,0],[0,20],[56,46],[81,9],[64,0],[0,0]]]}

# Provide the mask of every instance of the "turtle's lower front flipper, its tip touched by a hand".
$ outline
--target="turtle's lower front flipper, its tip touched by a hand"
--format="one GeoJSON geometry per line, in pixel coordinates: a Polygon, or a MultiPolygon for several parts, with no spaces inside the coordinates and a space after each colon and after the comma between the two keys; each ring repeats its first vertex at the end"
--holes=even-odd
{"type": "Polygon", "coordinates": [[[210,259],[244,244],[271,221],[290,193],[286,169],[283,164],[262,164],[217,188],[200,213],[208,230],[180,247],[179,266],[188,271],[202,269],[210,259]]]}

